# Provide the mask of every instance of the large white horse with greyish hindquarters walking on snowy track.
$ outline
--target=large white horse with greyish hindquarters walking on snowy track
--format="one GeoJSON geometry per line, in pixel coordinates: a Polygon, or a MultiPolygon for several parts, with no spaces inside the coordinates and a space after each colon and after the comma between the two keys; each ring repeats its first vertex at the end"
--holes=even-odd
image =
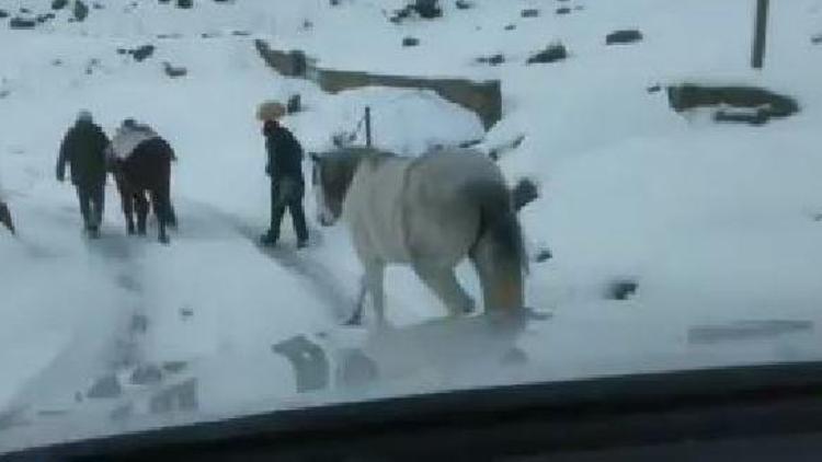
{"type": "Polygon", "coordinates": [[[319,221],[347,222],[365,268],[355,313],[366,291],[385,323],[383,279],[388,264],[410,265],[453,316],[473,310],[455,267],[470,257],[487,311],[523,307],[526,268],[522,233],[499,168],[469,150],[401,158],[367,148],[312,154],[319,221]]]}

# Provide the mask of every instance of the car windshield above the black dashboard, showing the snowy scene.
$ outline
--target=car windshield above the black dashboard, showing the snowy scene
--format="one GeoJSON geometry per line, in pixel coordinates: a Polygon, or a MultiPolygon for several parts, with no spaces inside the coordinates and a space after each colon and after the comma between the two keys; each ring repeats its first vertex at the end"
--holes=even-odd
{"type": "Polygon", "coordinates": [[[822,0],[0,0],[0,454],[818,360],[822,0]]]}

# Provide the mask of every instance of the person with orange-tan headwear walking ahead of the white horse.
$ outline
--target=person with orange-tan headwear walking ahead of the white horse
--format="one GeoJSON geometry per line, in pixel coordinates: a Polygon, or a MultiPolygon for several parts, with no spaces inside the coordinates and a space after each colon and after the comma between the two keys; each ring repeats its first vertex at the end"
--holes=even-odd
{"type": "Polygon", "coordinates": [[[269,161],[265,173],[271,177],[271,227],[260,238],[263,245],[275,245],[286,208],[297,233],[297,249],[308,244],[308,227],[302,208],[306,185],[302,178],[302,147],[279,119],[285,106],[269,101],[258,107],[256,117],[263,124],[269,161]]]}

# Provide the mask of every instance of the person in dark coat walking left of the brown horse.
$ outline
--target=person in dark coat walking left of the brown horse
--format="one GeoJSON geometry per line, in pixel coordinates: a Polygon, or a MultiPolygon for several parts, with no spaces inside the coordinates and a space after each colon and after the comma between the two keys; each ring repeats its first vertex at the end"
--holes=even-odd
{"type": "Polygon", "coordinates": [[[91,113],[81,111],[60,146],[57,159],[57,180],[66,177],[66,164],[71,169],[71,183],[77,187],[85,231],[91,238],[100,235],[105,207],[105,150],[109,137],[94,124],[91,113]]]}

